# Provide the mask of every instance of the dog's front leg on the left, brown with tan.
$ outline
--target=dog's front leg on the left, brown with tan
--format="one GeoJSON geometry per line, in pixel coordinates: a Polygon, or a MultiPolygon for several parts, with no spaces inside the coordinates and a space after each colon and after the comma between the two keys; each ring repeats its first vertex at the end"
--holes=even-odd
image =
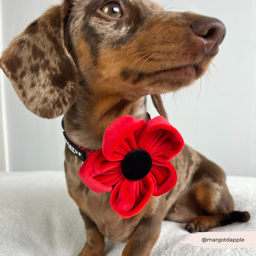
{"type": "Polygon", "coordinates": [[[105,237],[96,224],[81,210],[79,212],[85,222],[86,242],[78,256],[101,256],[105,248],[105,237]]]}

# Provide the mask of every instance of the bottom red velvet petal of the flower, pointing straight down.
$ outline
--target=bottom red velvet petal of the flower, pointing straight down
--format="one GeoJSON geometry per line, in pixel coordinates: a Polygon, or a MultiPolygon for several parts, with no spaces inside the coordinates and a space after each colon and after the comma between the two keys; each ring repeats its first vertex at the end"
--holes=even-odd
{"type": "Polygon", "coordinates": [[[126,178],[119,181],[110,196],[112,209],[124,219],[139,213],[152,196],[154,182],[151,177],[147,175],[140,181],[130,181],[126,178]]]}

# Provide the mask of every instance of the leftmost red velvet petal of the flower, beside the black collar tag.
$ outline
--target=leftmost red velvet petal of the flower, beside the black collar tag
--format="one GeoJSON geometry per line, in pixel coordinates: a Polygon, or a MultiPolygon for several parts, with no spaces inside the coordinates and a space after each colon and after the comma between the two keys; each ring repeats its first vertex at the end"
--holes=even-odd
{"type": "Polygon", "coordinates": [[[110,192],[123,178],[121,161],[109,162],[99,149],[91,154],[79,170],[79,177],[95,193],[110,192]]]}

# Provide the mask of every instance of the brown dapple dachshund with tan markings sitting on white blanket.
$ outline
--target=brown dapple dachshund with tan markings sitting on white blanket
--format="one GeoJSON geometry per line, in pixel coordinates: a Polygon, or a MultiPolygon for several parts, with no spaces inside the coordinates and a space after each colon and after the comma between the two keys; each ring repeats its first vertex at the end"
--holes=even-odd
{"type": "MultiPolygon", "coordinates": [[[[18,97],[43,118],[64,114],[76,144],[98,150],[106,128],[119,116],[147,120],[146,95],[167,119],[160,94],[191,85],[208,69],[225,36],[215,18],[164,11],[148,0],[63,0],[13,39],[0,60],[18,97]]],[[[97,194],[78,176],[82,161],[65,148],[68,192],[85,222],[80,256],[100,256],[105,236],[128,241],[123,256],[150,254],[162,220],[204,232],[246,222],[220,167],[185,145],[172,161],[177,183],[152,196],[142,211],[121,218],[110,192],[97,194]]]]}

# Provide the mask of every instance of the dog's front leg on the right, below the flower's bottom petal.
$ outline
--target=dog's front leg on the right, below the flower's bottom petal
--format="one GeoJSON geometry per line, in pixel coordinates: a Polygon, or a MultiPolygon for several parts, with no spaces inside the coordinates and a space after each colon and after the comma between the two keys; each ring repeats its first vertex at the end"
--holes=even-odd
{"type": "Polygon", "coordinates": [[[164,206],[162,199],[160,199],[159,207],[152,210],[150,215],[144,217],[139,222],[127,245],[124,247],[122,256],[148,256],[158,240],[163,215],[164,206]]]}

